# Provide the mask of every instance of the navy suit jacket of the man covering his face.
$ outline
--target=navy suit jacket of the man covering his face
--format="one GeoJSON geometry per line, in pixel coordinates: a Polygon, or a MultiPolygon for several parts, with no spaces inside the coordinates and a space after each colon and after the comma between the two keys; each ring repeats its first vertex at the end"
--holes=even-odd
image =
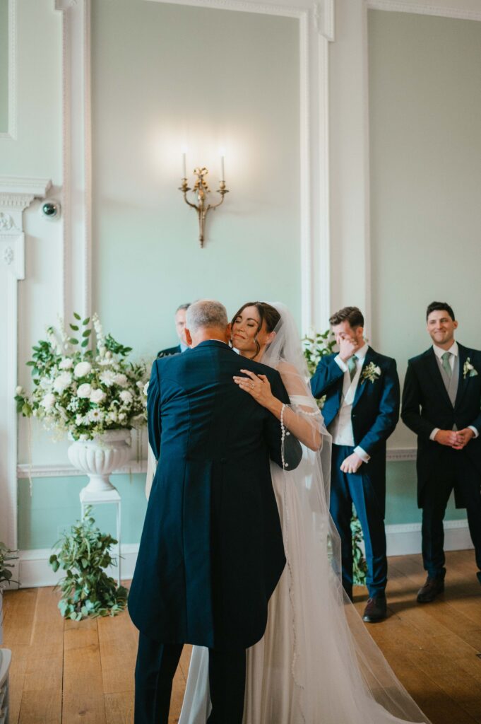
{"type": "MultiPolygon", "coordinates": [[[[341,408],[344,372],[335,361],[336,355],[321,358],[310,381],[312,395],[326,395],[323,416],[330,425],[341,408]]],[[[352,405],[352,431],[354,446],[359,445],[370,455],[369,463],[362,467],[376,487],[380,500],[386,497],[386,440],[399,420],[399,377],[396,361],[368,348],[362,369],[373,362],[380,368],[375,382],[365,379],[357,385],[352,405]]],[[[361,372],[362,376],[362,372],[361,372]]]]}

